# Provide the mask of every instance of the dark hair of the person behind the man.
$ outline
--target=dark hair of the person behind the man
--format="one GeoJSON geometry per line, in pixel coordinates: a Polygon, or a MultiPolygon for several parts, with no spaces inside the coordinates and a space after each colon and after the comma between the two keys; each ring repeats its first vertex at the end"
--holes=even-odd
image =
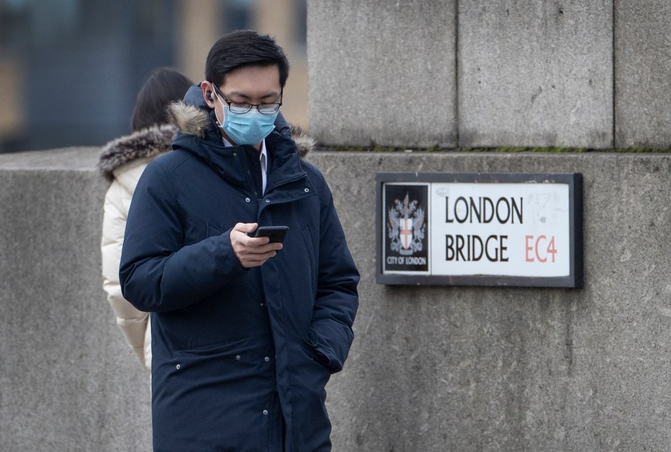
{"type": "Polygon", "coordinates": [[[173,68],[155,68],[138,93],[131,119],[133,131],[168,122],[168,104],[180,101],[194,83],[173,68]]]}

